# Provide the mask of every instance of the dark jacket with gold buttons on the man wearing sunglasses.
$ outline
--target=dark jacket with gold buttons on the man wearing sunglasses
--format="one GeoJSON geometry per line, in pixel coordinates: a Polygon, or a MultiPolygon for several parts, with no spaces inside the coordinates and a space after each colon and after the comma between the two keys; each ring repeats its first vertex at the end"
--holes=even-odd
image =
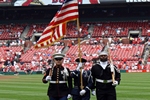
{"type": "MultiPolygon", "coordinates": [[[[71,94],[72,89],[72,79],[71,79],[71,73],[70,70],[67,68],[69,76],[66,77],[64,73],[64,67],[61,66],[61,68],[53,68],[51,81],[68,81],[66,83],[49,83],[48,92],[47,95],[50,97],[63,97],[67,96],[68,94],[71,94]]],[[[43,83],[47,83],[46,76],[49,75],[50,69],[48,69],[43,77],[43,83]]]]}

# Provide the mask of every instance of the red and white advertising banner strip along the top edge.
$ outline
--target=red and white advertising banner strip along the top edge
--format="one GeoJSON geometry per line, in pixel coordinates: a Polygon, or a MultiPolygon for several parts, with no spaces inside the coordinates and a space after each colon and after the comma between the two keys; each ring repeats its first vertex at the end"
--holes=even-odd
{"type": "MultiPolygon", "coordinates": [[[[16,0],[14,6],[62,5],[64,0],[16,0]]],[[[79,4],[116,4],[150,2],[150,0],[78,0],[79,4]]]]}

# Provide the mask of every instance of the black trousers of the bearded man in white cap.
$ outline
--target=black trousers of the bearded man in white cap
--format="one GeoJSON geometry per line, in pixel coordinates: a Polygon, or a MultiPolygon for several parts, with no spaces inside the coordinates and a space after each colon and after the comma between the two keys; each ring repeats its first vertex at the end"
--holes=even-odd
{"type": "Polygon", "coordinates": [[[96,89],[97,100],[116,100],[115,87],[110,89],[96,89]]]}

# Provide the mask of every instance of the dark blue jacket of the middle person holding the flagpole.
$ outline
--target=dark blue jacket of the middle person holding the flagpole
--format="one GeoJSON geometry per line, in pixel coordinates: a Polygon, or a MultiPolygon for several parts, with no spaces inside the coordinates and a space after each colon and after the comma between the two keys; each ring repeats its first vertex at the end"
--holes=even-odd
{"type": "MultiPolygon", "coordinates": [[[[71,77],[74,78],[74,88],[71,91],[71,94],[73,95],[80,95],[79,92],[81,91],[81,76],[80,71],[73,71],[71,73],[71,77]]],[[[90,71],[83,71],[82,73],[82,79],[83,79],[83,89],[86,90],[86,93],[90,92],[90,89],[93,86],[93,80],[91,77],[90,71]]]]}

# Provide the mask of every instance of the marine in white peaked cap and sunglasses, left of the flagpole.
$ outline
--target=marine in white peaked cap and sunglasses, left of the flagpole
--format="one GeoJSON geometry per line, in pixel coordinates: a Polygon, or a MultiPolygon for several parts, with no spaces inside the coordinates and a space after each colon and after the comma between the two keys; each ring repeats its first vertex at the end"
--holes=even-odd
{"type": "Polygon", "coordinates": [[[49,81],[47,92],[49,100],[67,100],[67,98],[71,98],[72,78],[70,70],[62,66],[64,57],[64,54],[55,53],[53,55],[55,66],[52,67],[52,75],[49,75],[51,70],[49,68],[42,79],[43,83],[49,81]]]}

